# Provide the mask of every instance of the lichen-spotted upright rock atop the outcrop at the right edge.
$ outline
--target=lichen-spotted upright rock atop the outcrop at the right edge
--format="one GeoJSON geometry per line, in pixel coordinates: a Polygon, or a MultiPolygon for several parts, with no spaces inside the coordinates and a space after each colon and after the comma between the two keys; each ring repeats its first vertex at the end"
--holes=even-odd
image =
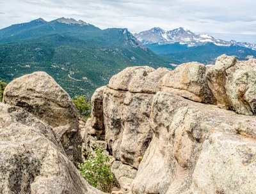
{"type": "Polygon", "coordinates": [[[220,56],[207,70],[209,87],[220,107],[239,114],[256,114],[256,59],[237,61],[220,56]]]}

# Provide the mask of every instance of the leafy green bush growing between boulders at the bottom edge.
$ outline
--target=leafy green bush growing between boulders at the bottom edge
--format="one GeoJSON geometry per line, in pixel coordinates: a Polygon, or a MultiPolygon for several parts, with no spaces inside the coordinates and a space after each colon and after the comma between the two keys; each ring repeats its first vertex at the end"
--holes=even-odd
{"type": "Polygon", "coordinates": [[[78,165],[81,175],[87,183],[106,193],[115,185],[110,171],[110,158],[104,154],[102,146],[95,146],[94,153],[86,153],[86,161],[78,165]]]}

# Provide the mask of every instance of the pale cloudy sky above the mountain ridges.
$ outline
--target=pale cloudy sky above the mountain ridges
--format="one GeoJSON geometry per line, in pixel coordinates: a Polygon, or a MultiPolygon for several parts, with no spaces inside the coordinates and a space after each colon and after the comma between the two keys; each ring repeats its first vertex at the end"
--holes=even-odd
{"type": "Polygon", "coordinates": [[[224,40],[256,43],[255,0],[0,0],[0,29],[42,17],[84,20],[101,29],[186,27],[224,40]]]}

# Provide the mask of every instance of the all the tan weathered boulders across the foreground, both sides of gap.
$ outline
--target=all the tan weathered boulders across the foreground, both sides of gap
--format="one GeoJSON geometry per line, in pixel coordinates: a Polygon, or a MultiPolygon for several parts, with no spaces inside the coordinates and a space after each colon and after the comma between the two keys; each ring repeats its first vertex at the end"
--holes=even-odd
{"type": "Polygon", "coordinates": [[[256,193],[256,59],[126,68],[93,94],[83,137],[44,72],[10,82],[0,112],[0,193],[101,193],[74,165],[82,141],[106,146],[122,193],[256,193]]]}

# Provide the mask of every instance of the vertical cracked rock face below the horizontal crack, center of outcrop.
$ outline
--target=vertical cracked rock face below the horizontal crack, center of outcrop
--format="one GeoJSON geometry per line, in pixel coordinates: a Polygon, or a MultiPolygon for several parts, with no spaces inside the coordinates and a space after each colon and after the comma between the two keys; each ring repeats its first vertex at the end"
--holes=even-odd
{"type": "Polygon", "coordinates": [[[138,168],[152,138],[149,114],[153,94],[106,88],[104,123],[108,149],[116,160],[138,168]]]}

